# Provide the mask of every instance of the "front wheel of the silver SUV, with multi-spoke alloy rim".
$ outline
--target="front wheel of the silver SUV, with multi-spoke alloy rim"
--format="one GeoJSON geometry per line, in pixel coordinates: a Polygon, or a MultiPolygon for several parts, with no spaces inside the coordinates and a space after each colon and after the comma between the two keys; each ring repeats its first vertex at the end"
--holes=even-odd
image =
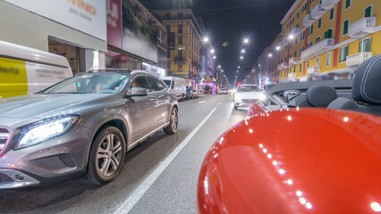
{"type": "Polygon", "coordinates": [[[82,182],[105,185],[119,176],[123,169],[125,141],[118,128],[103,128],[91,145],[86,175],[82,182]]]}

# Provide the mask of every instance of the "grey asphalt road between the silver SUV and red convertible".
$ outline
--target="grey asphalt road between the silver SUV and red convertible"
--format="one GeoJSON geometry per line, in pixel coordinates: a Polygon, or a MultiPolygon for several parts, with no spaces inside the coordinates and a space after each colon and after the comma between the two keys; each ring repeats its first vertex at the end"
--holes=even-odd
{"type": "Polygon", "coordinates": [[[179,128],[148,138],[126,154],[114,182],[79,179],[21,190],[0,190],[0,213],[197,213],[199,169],[218,136],[245,118],[231,95],[180,103],[179,128]]]}

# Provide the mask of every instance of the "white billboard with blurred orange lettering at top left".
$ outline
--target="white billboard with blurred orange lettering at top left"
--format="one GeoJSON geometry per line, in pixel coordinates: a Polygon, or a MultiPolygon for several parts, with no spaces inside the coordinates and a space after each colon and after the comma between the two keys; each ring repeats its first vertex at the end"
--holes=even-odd
{"type": "Polygon", "coordinates": [[[106,0],[3,0],[106,41],[106,0]]]}

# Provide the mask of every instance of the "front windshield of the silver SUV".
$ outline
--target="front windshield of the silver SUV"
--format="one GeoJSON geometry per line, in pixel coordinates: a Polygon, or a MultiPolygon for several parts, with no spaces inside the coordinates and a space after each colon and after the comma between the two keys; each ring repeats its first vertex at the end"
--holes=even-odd
{"type": "Polygon", "coordinates": [[[41,94],[114,94],[130,78],[122,73],[86,73],[68,78],[41,94]]]}

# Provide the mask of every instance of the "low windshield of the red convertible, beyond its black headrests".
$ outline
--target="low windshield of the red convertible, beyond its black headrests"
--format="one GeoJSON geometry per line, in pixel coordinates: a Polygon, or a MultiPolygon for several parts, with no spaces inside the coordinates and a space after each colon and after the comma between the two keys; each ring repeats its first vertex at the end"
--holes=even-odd
{"type": "Polygon", "coordinates": [[[284,92],[287,90],[301,90],[305,91],[309,89],[310,86],[333,86],[335,89],[351,89],[353,84],[353,79],[337,79],[337,80],[319,80],[319,81],[309,81],[309,82],[290,82],[281,83],[278,85],[269,85],[265,87],[268,94],[275,94],[279,92],[284,92]]]}

